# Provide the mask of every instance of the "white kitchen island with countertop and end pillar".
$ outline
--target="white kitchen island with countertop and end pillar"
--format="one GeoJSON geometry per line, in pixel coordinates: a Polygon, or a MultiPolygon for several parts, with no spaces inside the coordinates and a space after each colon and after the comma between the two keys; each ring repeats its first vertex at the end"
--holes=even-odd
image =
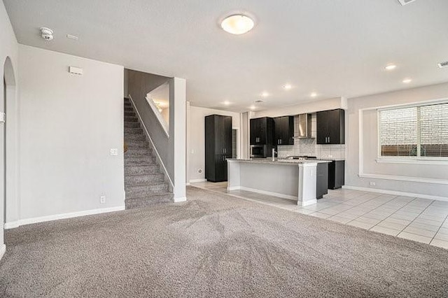
{"type": "Polygon", "coordinates": [[[227,159],[228,190],[248,190],[316,204],[317,164],[325,160],[227,159]]]}

